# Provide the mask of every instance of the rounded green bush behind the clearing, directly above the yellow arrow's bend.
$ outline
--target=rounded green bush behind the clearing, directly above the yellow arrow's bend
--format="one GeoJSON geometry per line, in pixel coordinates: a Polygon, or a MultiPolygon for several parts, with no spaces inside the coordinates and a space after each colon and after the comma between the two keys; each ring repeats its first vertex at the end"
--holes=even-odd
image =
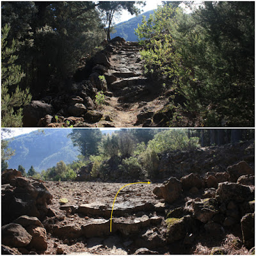
{"type": "Polygon", "coordinates": [[[127,179],[143,178],[142,166],[138,163],[137,157],[129,157],[122,160],[122,164],[118,165],[118,170],[127,177],[127,179]]]}

